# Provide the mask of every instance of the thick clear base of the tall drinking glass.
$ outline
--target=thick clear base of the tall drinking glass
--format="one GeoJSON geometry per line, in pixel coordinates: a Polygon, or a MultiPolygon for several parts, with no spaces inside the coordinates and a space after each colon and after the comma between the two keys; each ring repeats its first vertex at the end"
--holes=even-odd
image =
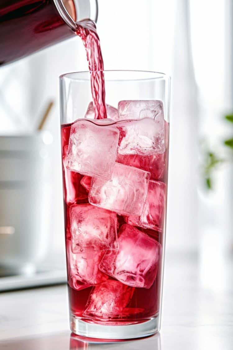
{"type": "Polygon", "coordinates": [[[70,315],[71,331],[77,335],[98,339],[132,339],[152,335],[159,331],[159,316],[149,320],[122,325],[103,325],[83,321],[70,315]]]}

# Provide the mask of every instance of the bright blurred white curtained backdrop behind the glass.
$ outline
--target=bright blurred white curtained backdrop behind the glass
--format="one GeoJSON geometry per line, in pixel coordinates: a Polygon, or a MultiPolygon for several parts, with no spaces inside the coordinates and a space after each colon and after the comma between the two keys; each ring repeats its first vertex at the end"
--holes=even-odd
{"type": "MultiPolygon", "coordinates": [[[[222,140],[229,136],[223,116],[232,112],[232,1],[99,0],[97,29],[105,69],[172,76],[167,252],[200,252],[209,264],[216,256],[221,260],[233,243],[232,166],[220,166],[213,190],[207,191],[198,175],[197,149],[204,139],[210,150],[222,153],[222,140]]],[[[74,36],[1,68],[0,74],[2,134],[35,129],[48,101],[55,102],[46,124],[54,139],[48,239],[50,259],[61,264],[65,245],[58,76],[87,69],[81,39],[74,36]]]]}

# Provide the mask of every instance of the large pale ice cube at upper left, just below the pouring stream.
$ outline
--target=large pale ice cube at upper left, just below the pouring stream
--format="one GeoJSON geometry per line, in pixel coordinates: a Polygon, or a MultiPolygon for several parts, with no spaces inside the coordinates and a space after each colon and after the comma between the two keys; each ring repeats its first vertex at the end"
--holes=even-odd
{"type": "Polygon", "coordinates": [[[88,176],[111,177],[119,131],[111,125],[78,120],[71,126],[68,169],[88,176]]]}

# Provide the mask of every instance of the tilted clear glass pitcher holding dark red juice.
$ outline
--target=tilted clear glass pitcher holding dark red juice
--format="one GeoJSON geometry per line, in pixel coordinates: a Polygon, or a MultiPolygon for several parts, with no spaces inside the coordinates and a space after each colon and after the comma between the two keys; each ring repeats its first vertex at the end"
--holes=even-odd
{"type": "Polygon", "coordinates": [[[97,16],[97,0],[0,0],[0,65],[71,37],[77,22],[97,16]]]}

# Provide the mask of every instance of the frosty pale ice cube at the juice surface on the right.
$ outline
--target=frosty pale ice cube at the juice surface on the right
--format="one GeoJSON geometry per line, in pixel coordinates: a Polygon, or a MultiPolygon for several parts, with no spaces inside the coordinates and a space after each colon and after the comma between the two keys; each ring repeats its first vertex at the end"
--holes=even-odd
{"type": "Polygon", "coordinates": [[[161,154],[165,152],[164,120],[144,118],[120,121],[119,154],[161,154]]]}

